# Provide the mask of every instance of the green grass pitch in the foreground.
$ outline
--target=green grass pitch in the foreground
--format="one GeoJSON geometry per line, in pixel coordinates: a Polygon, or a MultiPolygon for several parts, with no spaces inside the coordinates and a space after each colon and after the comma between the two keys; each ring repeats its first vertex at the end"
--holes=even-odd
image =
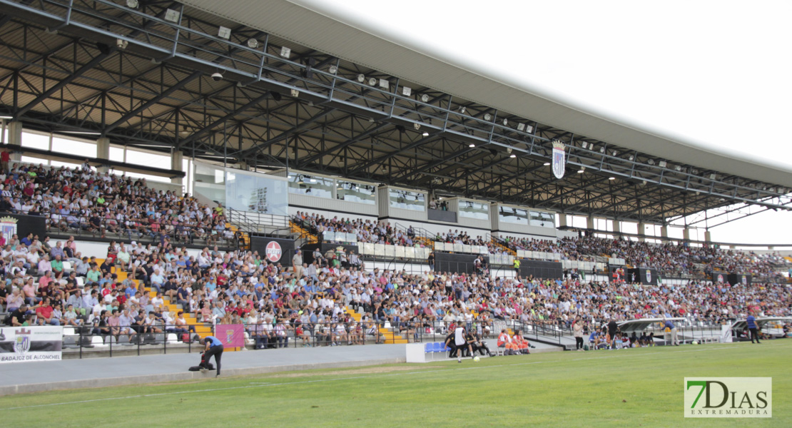
{"type": "Polygon", "coordinates": [[[792,426],[790,352],[780,339],[272,373],[5,396],[0,413],[15,428],[792,426]],[[773,418],[684,419],[684,377],[772,377],[773,418]]]}

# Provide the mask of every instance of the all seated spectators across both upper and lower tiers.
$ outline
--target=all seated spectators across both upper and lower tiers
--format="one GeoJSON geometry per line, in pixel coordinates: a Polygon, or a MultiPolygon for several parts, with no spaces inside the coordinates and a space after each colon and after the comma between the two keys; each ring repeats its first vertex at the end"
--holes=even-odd
{"type": "MultiPolygon", "coordinates": [[[[190,326],[180,312],[187,312],[201,323],[246,324],[257,346],[268,347],[286,346],[290,337],[306,346],[360,343],[367,335],[379,341],[377,327],[386,323],[414,340],[426,332],[443,332],[454,323],[489,335],[495,320],[569,328],[576,317],[596,324],[656,316],[718,321],[751,311],[792,315],[789,286],[775,283],[638,286],[577,278],[493,278],[486,271],[409,274],[366,269],[343,248],[315,252],[312,263],[294,272],[269,263],[257,252],[221,252],[208,246],[195,254],[179,248],[179,237],[194,242],[225,233],[222,208],[153,191],[144,180],[95,172],[87,165],[81,169],[13,165],[3,174],[2,184],[3,210],[46,216],[51,229],[65,228],[63,232],[94,226],[103,235],[123,231],[126,241],[131,241],[110,243],[102,263],[78,252],[73,237],[53,243],[50,238],[14,236],[0,242],[0,275],[5,280],[0,305],[10,314],[6,322],[13,325],[87,325],[94,333],[116,336],[186,333],[190,326]],[[94,223],[92,218],[105,220],[94,223]],[[154,242],[135,239],[147,235],[154,242]],[[127,272],[128,278],[122,280],[113,267],[127,272]],[[181,311],[169,310],[166,299],[181,305],[181,311]],[[363,319],[354,320],[347,307],[359,309],[363,319]]],[[[412,228],[402,232],[386,222],[307,213],[298,213],[293,220],[311,233],[346,232],[355,233],[360,242],[418,244],[412,228]]],[[[438,238],[493,248],[482,237],[464,232],[449,230],[438,238]]],[[[593,237],[502,242],[512,249],[558,252],[564,259],[607,255],[634,266],[680,272],[698,264],[761,273],[781,260],[775,255],[593,237]]]]}

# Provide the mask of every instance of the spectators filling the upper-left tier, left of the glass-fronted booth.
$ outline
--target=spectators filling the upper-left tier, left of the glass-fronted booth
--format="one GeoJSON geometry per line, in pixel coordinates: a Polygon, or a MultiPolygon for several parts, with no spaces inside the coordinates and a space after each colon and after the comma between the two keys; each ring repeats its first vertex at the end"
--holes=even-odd
{"type": "Polygon", "coordinates": [[[73,169],[13,164],[0,183],[0,212],[44,216],[51,233],[190,244],[235,238],[222,207],[156,191],[146,179],[97,172],[87,161],[73,169]]]}

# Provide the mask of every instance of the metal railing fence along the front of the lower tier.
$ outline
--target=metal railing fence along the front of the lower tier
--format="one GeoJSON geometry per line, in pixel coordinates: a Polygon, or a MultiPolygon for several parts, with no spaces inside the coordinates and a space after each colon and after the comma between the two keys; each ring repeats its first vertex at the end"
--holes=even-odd
{"type": "MultiPolygon", "coordinates": [[[[675,320],[680,342],[718,342],[721,326],[731,325],[733,320],[675,320]]],[[[404,321],[388,316],[383,319],[358,322],[323,323],[280,323],[242,324],[245,330],[245,345],[254,349],[287,347],[336,347],[379,343],[425,343],[444,342],[453,331],[451,324],[463,324],[468,331],[482,339],[497,338],[501,331],[509,334],[520,331],[525,339],[541,343],[574,347],[571,321],[564,320],[470,320],[449,321],[421,320],[404,321]],[[282,328],[279,328],[279,325],[282,328]]],[[[592,330],[600,330],[606,320],[584,323],[584,341],[592,330]]],[[[64,354],[77,354],[78,358],[101,353],[102,356],[150,354],[152,351],[200,352],[203,346],[196,345],[199,335],[191,326],[173,324],[135,325],[130,327],[80,326],[66,327],[63,334],[64,354]],[[105,354],[106,353],[106,354],[105,354]]],[[[214,331],[214,328],[213,328],[214,331]]],[[[661,323],[649,325],[647,334],[655,333],[660,338],[667,333],[661,323]]],[[[214,334],[214,332],[212,332],[214,334]]]]}

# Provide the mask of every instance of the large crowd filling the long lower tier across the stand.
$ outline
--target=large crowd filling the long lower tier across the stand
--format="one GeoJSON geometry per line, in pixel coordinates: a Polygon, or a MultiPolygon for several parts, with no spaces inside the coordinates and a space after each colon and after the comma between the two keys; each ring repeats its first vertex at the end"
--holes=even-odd
{"type": "Polygon", "coordinates": [[[200,322],[246,324],[260,347],[360,343],[382,339],[389,323],[411,340],[464,323],[482,335],[495,320],[569,328],[576,317],[590,324],[658,316],[721,321],[757,315],[792,315],[792,290],[782,284],[691,282],[639,286],[579,280],[493,278],[425,271],[366,270],[342,258],[343,249],[314,254],[295,274],[257,252],[204,248],[190,255],[171,244],[112,243],[103,263],[82,257],[73,240],[55,245],[16,237],[6,245],[0,302],[10,324],[88,324],[97,334],[187,332],[184,314],[200,322]],[[63,256],[72,270],[63,268],[63,256]],[[120,281],[112,267],[127,271],[120,281]],[[83,278],[78,279],[78,278],[83,278]],[[135,285],[131,278],[139,279],[135,285]],[[81,282],[85,283],[80,287],[81,282]],[[144,286],[155,290],[149,297],[144,286]],[[346,307],[364,313],[359,322],[346,307]]]}

